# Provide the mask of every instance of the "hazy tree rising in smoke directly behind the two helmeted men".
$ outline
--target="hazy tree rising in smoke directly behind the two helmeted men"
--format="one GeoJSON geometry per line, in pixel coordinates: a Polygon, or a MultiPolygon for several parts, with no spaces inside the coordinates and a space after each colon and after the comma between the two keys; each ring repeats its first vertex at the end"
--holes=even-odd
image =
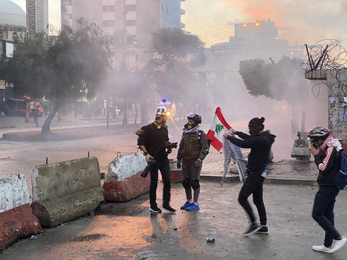
{"type": "Polygon", "coordinates": [[[152,33],[152,50],[158,58],[147,63],[146,76],[171,104],[182,101],[196,89],[192,70],[206,63],[204,45],[198,36],[180,28],[163,28],[152,33]]]}

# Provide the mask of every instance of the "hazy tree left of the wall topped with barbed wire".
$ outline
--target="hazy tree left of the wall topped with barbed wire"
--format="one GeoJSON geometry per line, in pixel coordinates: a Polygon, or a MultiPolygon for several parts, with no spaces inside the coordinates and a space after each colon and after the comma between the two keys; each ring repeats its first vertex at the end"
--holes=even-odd
{"type": "Polygon", "coordinates": [[[265,96],[277,101],[285,100],[292,107],[292,129],[296,132],[299,121],[299,107],[304,110],[308,99],[308,88],[301,60],[285,55],[276,63],[263,59],[240,61],[239,73],[248,93],[252,96],[265,96]]]}

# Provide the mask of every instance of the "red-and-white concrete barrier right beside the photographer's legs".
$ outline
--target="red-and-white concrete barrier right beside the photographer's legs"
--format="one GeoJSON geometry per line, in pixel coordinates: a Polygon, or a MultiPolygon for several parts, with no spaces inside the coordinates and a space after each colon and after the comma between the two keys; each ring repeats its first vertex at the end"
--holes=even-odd
{"type": "Polygon", "coordinates": [[[116,157],[109,164],[103,185],[105,200],[125,202],[149,192],[149,174],[141,177],[146,165],[141,152],[116,157]]]}

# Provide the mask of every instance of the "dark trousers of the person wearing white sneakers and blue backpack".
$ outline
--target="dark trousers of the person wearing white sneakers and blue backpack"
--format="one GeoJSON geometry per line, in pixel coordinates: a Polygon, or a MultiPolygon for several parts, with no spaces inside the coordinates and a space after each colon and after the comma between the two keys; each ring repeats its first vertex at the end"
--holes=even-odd
{"type": "Polygon", "coordinates": [[[334,206],[338,193],[336,187],[320,186],[314,198],[312,217],[325,230],[324,246],[327,248],[340,237],[334,227],[334,206]]]}

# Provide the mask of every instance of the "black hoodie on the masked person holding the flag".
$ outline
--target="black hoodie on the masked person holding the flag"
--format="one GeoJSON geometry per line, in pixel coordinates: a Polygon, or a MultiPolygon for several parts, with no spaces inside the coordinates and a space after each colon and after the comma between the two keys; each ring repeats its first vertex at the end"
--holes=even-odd
{"type": "Polygon", "coordinates": [[[235,135],[244,140],[233,136],[228,136],[228,140],[241,148],[251,148],[247,168],[254,174],[262,174],[269,162],[271,145],[276,136],[272,135],[269,130],[254,136],[243,132],[236,132],[235,135]]]}

